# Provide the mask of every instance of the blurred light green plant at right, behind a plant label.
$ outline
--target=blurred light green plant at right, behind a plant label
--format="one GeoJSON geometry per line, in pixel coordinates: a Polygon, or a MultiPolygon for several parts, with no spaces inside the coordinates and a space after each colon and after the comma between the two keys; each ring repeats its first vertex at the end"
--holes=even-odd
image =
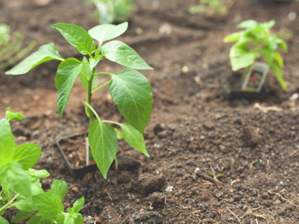
{"type": "Polygon", "coordinates": [[[280,86],[285,90],[287,85],[284,79],[284,59],[277,51],[280,47],[287,51],[286,42],[277,35],[271,33],[270,29],[275,25],[275,20],[268,22],[257,22],[245,20],[237,25],[244,30],[232,33],[224,38],[224,42],[236,42],[230,49],[230,61],[233,71],[245,69],[245,75],[253,63],[262,58],[276,76],[280,86]]]}

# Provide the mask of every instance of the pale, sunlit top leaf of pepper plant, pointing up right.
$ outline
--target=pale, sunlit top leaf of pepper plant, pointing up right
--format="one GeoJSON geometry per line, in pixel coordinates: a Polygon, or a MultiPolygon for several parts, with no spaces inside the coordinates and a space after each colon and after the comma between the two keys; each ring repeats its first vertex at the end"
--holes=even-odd
{"type": "Polygon", "coordinates": [[[128,22],[123,22],[118,25],[103,24],[93,27],[88,30],[88,33],[92,38],[99,42],[99,45],[101,45],[106,40],[111,40],[122,35],[127,29],[128,22]]]}

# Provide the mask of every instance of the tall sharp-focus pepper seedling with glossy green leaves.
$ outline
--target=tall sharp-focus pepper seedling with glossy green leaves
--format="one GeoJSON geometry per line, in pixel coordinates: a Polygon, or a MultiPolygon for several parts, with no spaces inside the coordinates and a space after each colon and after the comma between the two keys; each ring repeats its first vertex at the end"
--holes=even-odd
{"type": "Polygon", "coordinates": [[[51,26],[56,28],[82,55],[88,55],[89,60],[86,57],[83,57],[82,61],[76,58],[64,59],[54,44],[49,43],[41,46],[37,52],[7,71],[6,74],[21,75],[45,61],[61,61],[55,77],[59,116],[62,116],[68,103],[76,79],[80,78],[87,92],[85,112],[90,120],[89,145],[93,158],[105,179],[118,151],[117,133],[121,134],[130,146],[149,156],[143,133],[152,110],[151,86],[149,81],[135,69],[152,68],[135,50],[121,41],[114,40],[103,44],[123,34],[128,28],[128,23],[98,25],[88,32],[74,24],[58,23],[51,26]],[[93,39],[98,41],[97,47],[93,39]],[[129,68],[117,73],[95,72],[96,65],[103,57],[129,68]],[[98,84],[98,76],[110,76],[111,79],[98,84]],[[128,123],[102,120],[92,107],[92,95],[105,86],[109,86],[113,101],[128,123]],[[118,125],[122,128],[122,132],[107,124],[118,125]]]}

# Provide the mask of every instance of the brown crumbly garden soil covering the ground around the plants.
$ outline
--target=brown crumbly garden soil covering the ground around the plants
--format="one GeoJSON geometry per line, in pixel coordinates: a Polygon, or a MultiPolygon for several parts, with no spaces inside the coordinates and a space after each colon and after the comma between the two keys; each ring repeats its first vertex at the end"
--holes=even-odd
{"type": "MultiPolygon", "coordinates": [[[[50,0],[45,6],[36,2],[0,0],[0,22],[23,33],[27,42],[54,42],[63,57],[79,57],[49,24],[89,29],[97,25],[94,6],[82,0],[50,0]]],[[[41,181],[44,189],[56,178],[67,181],[64,204],[84,196],[86,224],[299,223],[299,100],[289,100],[299,92],[299,17],[288,17],[299,14],[299,3],[249,6],[235,0],[227,16],[211,17],[188,14],[197,0],[135,2],[129,30],[120,39],[155,69],[143,72],[154,95],[145,132],[150,157],[120,142],[119,171],[112,168],[107,180],[98,171],[73,178],[55,146],[57,138],[87,130],[84,88],[75,84],[59,118],[54,86],[58,62],[24,76],[0,72],[1,110],[10,106],[27,115],[12,123],[17,142],[42,146],[36,168],[51,173],[41,181]],[[276,99],[230,102],[221,77],[231,74],[231,44],[223,43],[223,37],[250,18],[274,18],[277,32],[292,31],[289,52],[283,54],[288,90],[276,99]],[[141,35],[136,34],[139,27],[141,35]],[[183,66],[188,66],[187,73],[181,72],[183,66]],[[208,175],[210,166],[224,175],[220,182],[208,175]]],[[[121,69],[101,62],[102,71],[121,69]]],[[[123,121],[107,93],[96,94],[93,105],[104,119],[123,121]]]]}

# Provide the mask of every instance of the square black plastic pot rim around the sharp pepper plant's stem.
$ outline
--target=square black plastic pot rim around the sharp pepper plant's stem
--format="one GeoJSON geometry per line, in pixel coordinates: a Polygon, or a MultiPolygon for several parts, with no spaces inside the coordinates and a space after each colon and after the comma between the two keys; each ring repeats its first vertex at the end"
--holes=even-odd
{"type": "Polygon", "coordinates": [[[63,156],[65,164],[67,165],[67,168],[69,169],[69,171],[72,174],[72,176],[78,177],[78,178],[83,177],[87,173],[95,172],[98,169],[96,164],[92,164],[90,166],[85,166],[85,167],[82,167],[82,168],[74,168],[71,165],[71,163],[69,162],[69,160],[67,159],[67,156],[65,155],[65,153],[64,153],[64,151],[63,151],[63,149],[61,147],[61,143],[65,139],[75,138],[75,137],[80,136],[80,135],[86,135],[86,132],[84,132],[84,133],[78,133],[78,134],[73,134],[73,135],[70,135],[70,136],[67,136],[67,137],[63,137],[63,138],[60,138],[60,139],[56,140],[56,145],[57,145],[59,151],[61,152],[61,154],[63,156]]]}

